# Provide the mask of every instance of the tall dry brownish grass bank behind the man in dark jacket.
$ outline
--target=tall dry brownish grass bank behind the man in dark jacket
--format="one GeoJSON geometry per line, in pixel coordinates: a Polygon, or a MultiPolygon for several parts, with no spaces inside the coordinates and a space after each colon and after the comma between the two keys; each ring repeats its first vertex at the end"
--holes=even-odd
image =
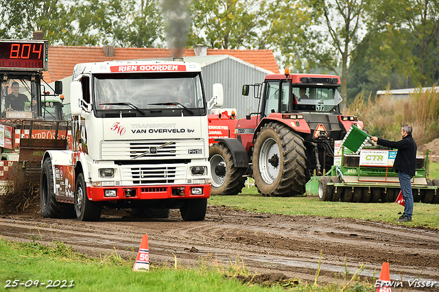
{"type": "Polygon", "coordinates": [[[372,136],[386,140],[401,140],[401,126],[410,123],[418,146],[439,137],[439,92],[418,88],[409,99],[396,100],[390,96],[366,100],[360,94],[349,104],[346,114],[355,114],[364,122],[372,136]]]}

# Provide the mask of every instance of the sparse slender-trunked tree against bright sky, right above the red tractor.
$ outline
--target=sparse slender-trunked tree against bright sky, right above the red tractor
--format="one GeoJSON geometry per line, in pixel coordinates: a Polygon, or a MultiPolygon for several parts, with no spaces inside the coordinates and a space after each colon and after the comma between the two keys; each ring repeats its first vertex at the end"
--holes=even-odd
{"type": "Polygon", "coordinates": [[[306,0],[311,8],[312,23],[305,27],[303,40],[298,42],[302,58],[309,67],[327,68],[341,76],[344,106],[353,53],[366,34],[364,29],[374,0],[306,0]],[[341,68],[341,71],[340,71],[341,68]]]}

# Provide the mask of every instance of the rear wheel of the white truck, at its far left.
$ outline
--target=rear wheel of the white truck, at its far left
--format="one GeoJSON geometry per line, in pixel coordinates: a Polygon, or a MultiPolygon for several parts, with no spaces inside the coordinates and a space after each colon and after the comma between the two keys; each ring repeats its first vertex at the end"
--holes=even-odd
{"type": "Polygon", "coordinates": [[[40,177],[41,215],[45,218],[74,218],[73,204],[56,202],[54,194],[54,171],[49,158],[43,162],[40,177]]]}

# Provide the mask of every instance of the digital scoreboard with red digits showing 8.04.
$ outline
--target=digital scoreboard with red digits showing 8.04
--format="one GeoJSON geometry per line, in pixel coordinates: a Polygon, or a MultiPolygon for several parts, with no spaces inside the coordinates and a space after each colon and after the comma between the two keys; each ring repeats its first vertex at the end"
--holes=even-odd
{"type": "Polygon", "coordinates": [[[0,40],[0,69],[47,71],[47,40],[0,40]]]}

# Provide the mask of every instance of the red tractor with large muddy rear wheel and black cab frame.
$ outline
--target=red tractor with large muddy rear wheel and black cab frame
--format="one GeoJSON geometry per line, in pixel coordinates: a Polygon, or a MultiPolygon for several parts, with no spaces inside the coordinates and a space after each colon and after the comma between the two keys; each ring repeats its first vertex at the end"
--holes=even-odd
{"type": "Polygon", "coordinates": [[[342,140],[355,116],[340,112],[340,77],[315,74],[269,74],[253,88],[259,110],[245,119],[229,112],[209,115],[209,160],[213,195],[236,195],[246,176],[264,196],[305,193],[313,175],[333,165],[334,141],[342,140]],[[219,133],[219,131],[222,132],[219,133]]]}

